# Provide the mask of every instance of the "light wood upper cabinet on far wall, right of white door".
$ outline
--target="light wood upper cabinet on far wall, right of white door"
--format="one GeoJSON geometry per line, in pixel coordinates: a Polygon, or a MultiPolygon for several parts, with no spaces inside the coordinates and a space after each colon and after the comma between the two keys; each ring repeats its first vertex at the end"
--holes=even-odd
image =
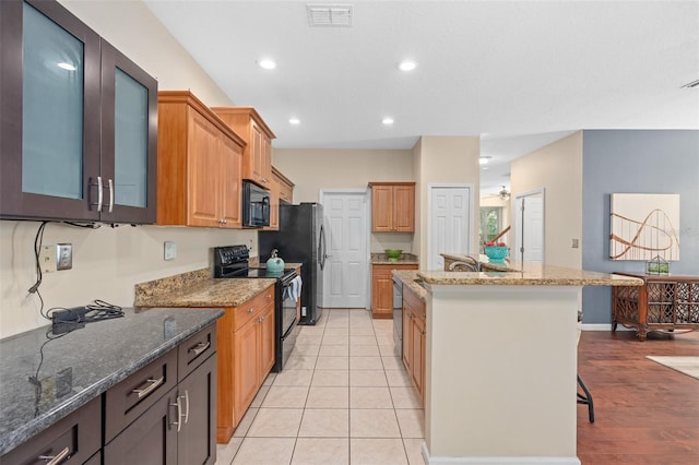
{"type": "Polygon", "coordinates": [[[415,231],[415,182],[369,182],[371,231],[415,231]]]}

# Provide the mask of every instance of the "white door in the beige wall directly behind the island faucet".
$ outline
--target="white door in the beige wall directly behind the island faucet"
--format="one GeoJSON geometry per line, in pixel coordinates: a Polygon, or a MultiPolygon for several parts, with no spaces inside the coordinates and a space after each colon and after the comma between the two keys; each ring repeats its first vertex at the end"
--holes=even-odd
{"type": "Polygon", "coordinates": [[[471,253],[471,186],[429,187],[428,270],[443,270],[440,253],[471,253]]]}

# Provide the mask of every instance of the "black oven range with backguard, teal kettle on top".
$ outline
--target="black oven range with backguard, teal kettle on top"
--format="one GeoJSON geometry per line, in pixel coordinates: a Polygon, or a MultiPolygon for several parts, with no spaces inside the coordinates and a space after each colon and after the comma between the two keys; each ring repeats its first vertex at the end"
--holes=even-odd
{"type": "MultiPolygon", "coordinates": [[[[265,267],[249,266],[250,254],[247,246],[213,248],[213,277],[215,278],[274,278],[274,367],[282,371],[298,334],[298,320],[294,293],[289,291],[296,278],[296,270],[284,269],[281,273],[268,272],[265,267]]],[[[299,294],[300,295],[300,294],[299,294]]]]}

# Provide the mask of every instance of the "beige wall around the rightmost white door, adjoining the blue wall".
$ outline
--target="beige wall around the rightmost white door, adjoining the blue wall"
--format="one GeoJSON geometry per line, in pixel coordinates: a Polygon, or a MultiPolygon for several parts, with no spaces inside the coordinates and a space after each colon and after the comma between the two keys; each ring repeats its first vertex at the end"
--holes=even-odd
{"type": "Polygon", "coordinates": [[[519,193],[544,189],[544,261],[580,269],[582,243],[571,243],[582,239],[582,131],[516,159],[510,174],[512,202],[519,193]]]}

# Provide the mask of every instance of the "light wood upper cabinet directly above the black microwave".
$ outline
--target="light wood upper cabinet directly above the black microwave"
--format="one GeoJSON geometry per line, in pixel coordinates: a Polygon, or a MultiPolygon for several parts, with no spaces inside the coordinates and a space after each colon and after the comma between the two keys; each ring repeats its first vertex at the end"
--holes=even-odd
{"type": "Polygon", "coordinates": [[[212,110],[247,142],[242,151],[242,179],[272,189],[272,130],[252,107],[214,107],[212,110]]]}

